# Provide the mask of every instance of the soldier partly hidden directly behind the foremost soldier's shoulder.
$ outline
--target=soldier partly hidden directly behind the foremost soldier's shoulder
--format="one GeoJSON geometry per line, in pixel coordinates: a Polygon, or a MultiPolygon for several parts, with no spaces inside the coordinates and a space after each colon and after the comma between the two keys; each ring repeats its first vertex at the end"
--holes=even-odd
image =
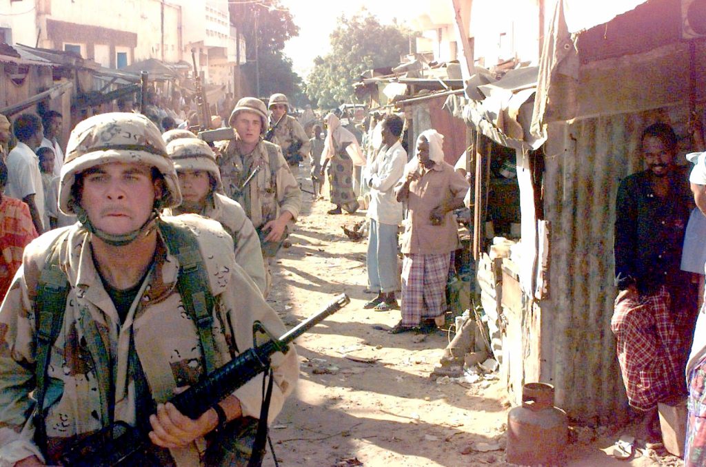
{"type": "Polygon", "coordinates": [[[235,261],[264,292],[265,263],[258,234],[237,201],[216,193],[223,190],[223,185],[213,150],[192,136],[169,142],[167,154],[177,169],[183,200],[178,207],[165,209],[164,214],[201,214],[220,222],[233,237],[235,261]]]}

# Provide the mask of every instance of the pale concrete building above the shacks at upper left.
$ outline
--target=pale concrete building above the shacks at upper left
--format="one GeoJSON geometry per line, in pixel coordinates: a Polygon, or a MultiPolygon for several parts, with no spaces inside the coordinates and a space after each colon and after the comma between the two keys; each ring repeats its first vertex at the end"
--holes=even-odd
{"type": "Polygon", "coordinates": [[[0,41],[75,51],[107,68],[191,62],[196,49],[206,82],[229,87],[245,61],[227,0],[0,0],[0,13],[0,41]]]}

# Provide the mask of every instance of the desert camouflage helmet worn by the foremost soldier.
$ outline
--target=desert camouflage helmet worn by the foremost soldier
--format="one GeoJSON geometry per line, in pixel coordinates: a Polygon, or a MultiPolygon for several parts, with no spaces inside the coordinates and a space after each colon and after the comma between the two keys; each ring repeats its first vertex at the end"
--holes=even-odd
{"type": "Polygon", "coordinates": [[[147,117],[114,112],[92,116],[71,131],[66,160],[61,167],[59,209],[78,214],[74,207],[73,184],[86,169],[110,162],[137,162],[155,167],[164,177],[165,193],[160,208],[181,204],[177,171],[167,157],[162,134],[147,117]]]}

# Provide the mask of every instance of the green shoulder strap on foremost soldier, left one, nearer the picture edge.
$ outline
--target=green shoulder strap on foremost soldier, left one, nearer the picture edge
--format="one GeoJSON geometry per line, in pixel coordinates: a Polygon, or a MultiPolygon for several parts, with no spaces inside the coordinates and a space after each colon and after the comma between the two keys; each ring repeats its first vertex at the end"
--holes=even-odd
{"type": "Polygon", "coordinates": [[[35,441],[47,453],[47,427],[44,424],[44,397],[47,395],[47,370],[49,356],[56,337],[61,332],[61,323],[64,322],[66,310],[66,297],[68,296],[68,279],[66,273],[59,265],[59,245],[64,241],[68,232],[61,233],[52,243],[52,250],[44,263],[37,284],[37,298],[35,299],[35,320],[37,321],[37,353],[35,358],[35,441]]]}

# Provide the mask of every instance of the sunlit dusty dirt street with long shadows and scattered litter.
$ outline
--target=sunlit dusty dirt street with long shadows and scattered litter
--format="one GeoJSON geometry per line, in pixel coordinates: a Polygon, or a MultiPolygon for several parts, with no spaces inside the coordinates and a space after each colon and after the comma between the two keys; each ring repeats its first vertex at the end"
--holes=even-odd
{"type": "MultiPolygon", "coordinates": [[[[302,185],[311,189],[306,181],[302,185]]],[[[312,204],[306,193],[304,198],[292,247],[280,251],[273,271],[268,301],[289,327],[337,293],[352,301],[299,339],[299,384],[270,430],[280,465],[510,465],[504,451],[510,406],[503,385],[493,375],[472,384],[438,384],[429,375],[448,342],[446,334],[390,335],[375,329],[395,325],[400,312],[362,308],[372,298],[363,291],[366,242],[349,241],[340,226],[359,222],[364,213],[330,216],[328,201],[312,204]],[[475,451],[477,443],[500,449],[475,451]]],[[[570,445],[568,465],[683,465],[653,452],[616,461],[606,453],[619,433],[603,434],[598,442],[570,445]]],[[[263,465],[274,465],[271,454],[263,465]]]]}

